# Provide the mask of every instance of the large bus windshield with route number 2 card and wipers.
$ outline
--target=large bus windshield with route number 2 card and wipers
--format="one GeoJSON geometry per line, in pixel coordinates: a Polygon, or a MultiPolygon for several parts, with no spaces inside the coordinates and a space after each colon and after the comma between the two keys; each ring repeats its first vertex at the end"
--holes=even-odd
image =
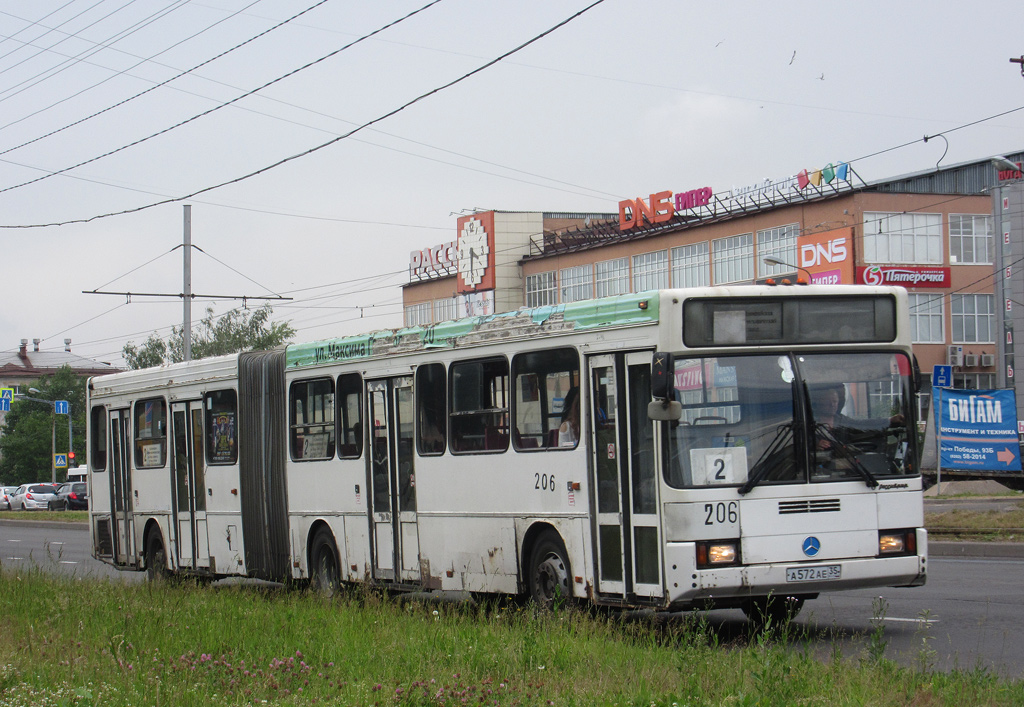
{"type": "Polygon", "coordinates": [[[899,352],[677,359],[667,482],[745,494],[915,473],[910,370],[899,352]]]}

